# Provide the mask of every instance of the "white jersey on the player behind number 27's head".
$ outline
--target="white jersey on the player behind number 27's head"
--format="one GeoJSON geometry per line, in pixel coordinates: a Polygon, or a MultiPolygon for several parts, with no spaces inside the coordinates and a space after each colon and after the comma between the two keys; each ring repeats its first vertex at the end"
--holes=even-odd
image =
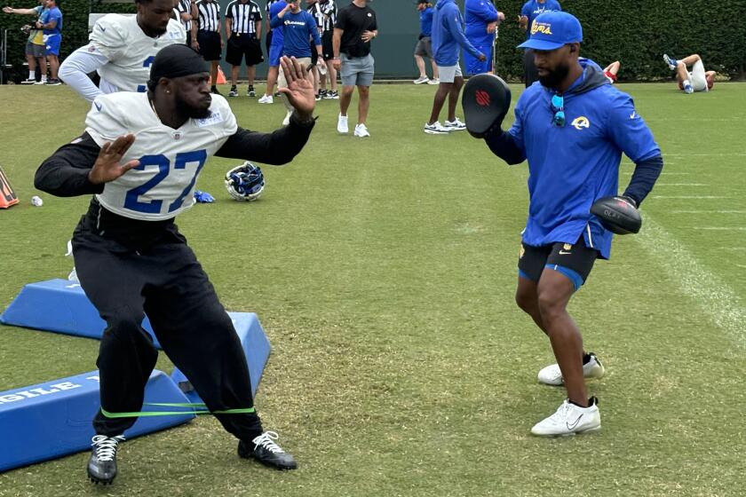
{"type": "Polygon", "coordinates": [[[96,21],[89,39],[89,47],[108,59],[98,70],[101,91],[146,91],[155,54],[163,47],[187,43],[187,32],[171,19],[163,35],[151,38],[139,27],[137,16],[107,14],[96,21]]]}

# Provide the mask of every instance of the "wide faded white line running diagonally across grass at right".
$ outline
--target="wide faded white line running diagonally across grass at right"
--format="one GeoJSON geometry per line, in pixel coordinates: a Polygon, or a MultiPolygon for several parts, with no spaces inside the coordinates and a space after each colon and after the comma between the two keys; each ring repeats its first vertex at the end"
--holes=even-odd
{"type": "Polygon", "coordinates": [[[664,271],[703,315],[725,331],[735,343],[746,346],[746,307],[726,281],[718,278],[661,225],[647,217],[635,240],[655,258],[664,271]]]}

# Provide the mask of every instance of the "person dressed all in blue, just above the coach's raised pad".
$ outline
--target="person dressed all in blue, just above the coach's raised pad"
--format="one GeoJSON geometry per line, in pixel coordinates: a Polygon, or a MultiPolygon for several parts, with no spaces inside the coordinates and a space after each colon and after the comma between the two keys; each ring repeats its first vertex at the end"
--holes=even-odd
{"type": "Polygon", "coordinates": [[[495,33],[500,21],[505,19],[503,12],[497,12],[491,0],[466,0],[464,20],[466,38],[483,52],[486,60],[479,60],[469,52],[464,53],[464,66],[467,75],[480,75],[493,72],[495,33]]]}

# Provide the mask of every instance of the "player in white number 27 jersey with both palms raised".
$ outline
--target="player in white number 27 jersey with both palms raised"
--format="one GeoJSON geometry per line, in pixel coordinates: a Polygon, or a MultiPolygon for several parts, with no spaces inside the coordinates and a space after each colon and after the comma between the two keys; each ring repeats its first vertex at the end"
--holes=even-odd
{"type": "Polygon", "coordinates": [[[93,101],[83,135],[36,171],[36,188],[57,196],[94,194],[73,234],[85,295],[106,319],[99,349],[101,408],[88,475],[116,476],[116,450],[142,408],[157,351],[147,318],[171,361],[207,409],[239,439],[238,454],[276,469],[296,461],[264,431],[254,410],[249,369],[233,323],[174,217],[194,203],[194,183],[211,155],[283,164],[313,130],[313,83],[297,60],[282,58],[295,108],[273,133],[243,130],[226,99],[210,95],[199,54],[171,45],[155,56],[147,93],[93,101]],[[106,277],[102,277],[106,274],[106,277]]]}

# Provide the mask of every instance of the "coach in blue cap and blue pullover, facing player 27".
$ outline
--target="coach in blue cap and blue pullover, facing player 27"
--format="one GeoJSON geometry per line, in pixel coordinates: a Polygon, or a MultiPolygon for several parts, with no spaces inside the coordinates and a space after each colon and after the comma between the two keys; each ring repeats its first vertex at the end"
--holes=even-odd
{"type": "Polygon", "coordinates": [[[617,195],[622,154],[636,164],[619,201],[639,206],[663,170],[653,134],[632,99],[610,84],[602,69],[582,59],[580,22],[566,12],[544,12],[520,48],[534,50],[539,83],[524,91],[507,132],[485,137],[509,164],[528,160],[528,220],[522,234],[516,302],[549,336],[557,364],[539,372],[542,383],[567,388],[567,399],[532,433],[570,435],[600,429],[596,398],[584,378],[604,368],[583,350],[567,303],[597,258],[610,256],[612,233],[590,209],[617,195]]]}

